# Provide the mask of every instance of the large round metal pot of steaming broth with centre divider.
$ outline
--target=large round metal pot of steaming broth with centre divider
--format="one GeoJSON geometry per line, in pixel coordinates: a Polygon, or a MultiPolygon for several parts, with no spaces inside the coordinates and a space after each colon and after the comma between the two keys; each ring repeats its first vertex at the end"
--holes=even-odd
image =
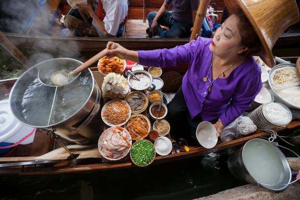
{"type": "Polygon", "coordinates": [[[103,127],[100,115],[100,89],[92,72],[84,70],[70,85],[47,87],[38,79],[39,69],[55,65],[80,66],[71,58],[55,58],[27,70],[13,86],[9,106],[23,124],[56,129],[58,135],[77,144],[96,141],[103,127]]]}

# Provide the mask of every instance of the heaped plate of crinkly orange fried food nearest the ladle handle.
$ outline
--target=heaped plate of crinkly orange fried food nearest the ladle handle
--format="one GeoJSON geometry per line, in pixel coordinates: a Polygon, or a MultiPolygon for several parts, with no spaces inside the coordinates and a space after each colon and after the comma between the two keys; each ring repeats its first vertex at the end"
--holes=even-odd
{"type": "Polygon", "coordinates": [[[121,74],[126,68],[126,61],[116,56],[112,58],[102,57],[97,67],[102,75],[108,75],[111,72],[121,74]]]}

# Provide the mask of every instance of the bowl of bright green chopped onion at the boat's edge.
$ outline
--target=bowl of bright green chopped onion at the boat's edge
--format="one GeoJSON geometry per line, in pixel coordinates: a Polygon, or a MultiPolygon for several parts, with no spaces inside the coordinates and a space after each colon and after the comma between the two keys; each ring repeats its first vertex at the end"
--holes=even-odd
{"type": "Polygon", "coordinates": [[[131,161],[139,166],[146,167],[150,165],[155,158],[155,147],[149,140],[136,141],[130,150],[131,161]]]}

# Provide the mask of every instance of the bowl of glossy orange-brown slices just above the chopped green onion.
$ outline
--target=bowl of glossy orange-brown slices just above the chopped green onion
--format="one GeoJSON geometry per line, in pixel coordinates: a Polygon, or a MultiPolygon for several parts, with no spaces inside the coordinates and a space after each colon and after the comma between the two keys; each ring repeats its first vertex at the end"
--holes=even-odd
{"type": "Polygon", "coordinates": [[[131,115],[125,128],[129,132],[132,140],[141,140],[148,136],[151,130],[151,123],[145,115],[134,114],[131,115]]]}

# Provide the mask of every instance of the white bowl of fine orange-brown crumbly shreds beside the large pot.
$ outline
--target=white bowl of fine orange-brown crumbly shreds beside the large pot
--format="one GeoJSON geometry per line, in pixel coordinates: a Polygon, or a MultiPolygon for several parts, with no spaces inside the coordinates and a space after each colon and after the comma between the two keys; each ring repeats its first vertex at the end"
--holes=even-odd
{"type": "Polygon", "coordinates": [[[130,115],[130,106],[125,100],[110,100],[104,104],[101,110],[102,120],[109,126],[125,125],[130,115]]]}

